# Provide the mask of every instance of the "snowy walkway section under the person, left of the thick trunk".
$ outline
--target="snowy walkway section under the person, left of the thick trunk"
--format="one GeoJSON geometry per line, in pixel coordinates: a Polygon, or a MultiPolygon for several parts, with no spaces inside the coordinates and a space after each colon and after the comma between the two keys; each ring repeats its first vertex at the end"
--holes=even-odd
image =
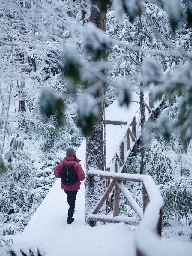
{"type": "MultiPolygon", "coordinates": [[[[76,155],[81,160],[82,168],[85,171],[85,143],[76,151],[76,155]]],[[[85,222],[85,185],[81,182],[80,190],[77,193],[74,213],[74,223],[71,229],[82,227],[85,222]]],[[[29,224],[23,230],[23,235],[46,235],[48,233],[60,233],[67,230],[68,203],[65,192],[61,189],[61,179],[57,179],[45,199],[32,216],[29,224]]]]}

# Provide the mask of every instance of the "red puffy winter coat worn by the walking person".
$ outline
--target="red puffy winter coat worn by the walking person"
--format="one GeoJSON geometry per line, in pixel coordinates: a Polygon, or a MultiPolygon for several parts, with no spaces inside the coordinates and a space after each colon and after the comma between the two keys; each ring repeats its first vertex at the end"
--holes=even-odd
{"type": "MultiPolygon", "coordinates": [[[[77,158],[74,158],[72,156],[66,156],[65,157],[64,163],[67,166],[73,165],[75,162],[77,162],[75,164],[75,173],[76,173],[76,177],[77,177],[77,182],[76,182],[75,185],[72,185],[72,186],[66,186],[66,185],[62,184],[62,182],[61,182],[61,188],[62,189],[70,190],[70,191],[80,189],[81,181],[83,181],[85,179],[85,173],[84,173],[81,165],[79,164],[80,161],[81,160],[79,160],[77,158]]],[[[63,161],[61,161],[54,170],[54,174],[55,174],[56,178],[61,178],[62,167],[63,167],[63,161]]]]}

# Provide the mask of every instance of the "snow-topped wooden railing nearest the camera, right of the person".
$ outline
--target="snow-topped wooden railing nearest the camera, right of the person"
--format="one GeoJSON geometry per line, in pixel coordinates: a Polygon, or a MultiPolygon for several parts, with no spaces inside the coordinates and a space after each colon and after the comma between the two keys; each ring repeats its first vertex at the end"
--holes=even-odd
{"type": "MultiPolygon", "coordinates": [[[[89,221],[101,221],[109,223],[125,222],[130,225],[137,225],[140,223],[136,231],[136,249],[137,256],[143,256],[143,235],[145,232],[150,234],[156,233],[161,236],[162,228],[162,207],[163,198],[158,191],[153,179],[149,175],[140,174],[127,174],[127,173],[112,173],[107,171],[96,171],[90,170],[87,175],[98,176],[110,179],[110,185],[105,191],[104,195],[99,200],[98,204],[88,215],[89,221]],[[124,182],[142,182],[143,183],[143,210],[137,204],[137,202],[132,197],[130,191],[125,187],[124,182]],[[114,188],[114,207],[113,215],[99,214],[101,207],[104,205],[105,201],[109,197],[111,191],[114,188]],[[120,203],[120,191],[127,198],[128,202],[135,210],[138,218],[119,216],[119,203],[120,203]],[[142,234],[142,235],[141,235],[142,234]]],[[[145,250],[145,248],[144,248],[145,250]]]]}

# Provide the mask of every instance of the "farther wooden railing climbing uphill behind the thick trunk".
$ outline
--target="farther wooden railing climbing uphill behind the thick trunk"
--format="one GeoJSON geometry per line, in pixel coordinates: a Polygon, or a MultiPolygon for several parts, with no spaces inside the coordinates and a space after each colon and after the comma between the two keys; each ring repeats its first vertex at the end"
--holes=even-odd
{"type": "MultiPolygon", "coordinates": [[[[144,92],[144,101],[146,106],[146,121],[150,118],[154,119],[154,111],[161,104],[161,101],[154,102],[152,94],[150,94],[149,88],[144,92]],[[148,102],[149,103],[148,103],[148,102]]],[[[125,125],[125,129],[122,131],[121,139],[116,144],[115,154],[107,161],[107,171],[111,172],[125,172],[125,162],[132,151],[137,153],[137,140],[140,138],[140,104],[135,108],[133,116],[129,122],[115,122],[106,120],[106,124],[125,125]],[[137,116],[137,119],[136,119],[137,116]]]]}

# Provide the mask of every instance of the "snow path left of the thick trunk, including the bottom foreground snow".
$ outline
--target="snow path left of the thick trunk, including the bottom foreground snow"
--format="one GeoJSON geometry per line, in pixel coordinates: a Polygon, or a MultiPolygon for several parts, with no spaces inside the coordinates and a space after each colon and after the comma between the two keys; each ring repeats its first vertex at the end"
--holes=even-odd
{"type": "MultiPolygon", "coordinates": [[[[76,151],[85,169],[85,141],[76,151]]],[[[74,218],[67,224],[68,204],[61,179],[57,179],[44,201],[32,216],[22,234],[7,236],[13,240],[13,249],[29,251],[40,249],[46,256],[135,256],[134,232],[125,223],[107,224],[94,228],[85,226],[85,185],[77,193],[74,218]]],[[[5,248],[0,248],[1,255],[7,255],[5,248]]]]}

